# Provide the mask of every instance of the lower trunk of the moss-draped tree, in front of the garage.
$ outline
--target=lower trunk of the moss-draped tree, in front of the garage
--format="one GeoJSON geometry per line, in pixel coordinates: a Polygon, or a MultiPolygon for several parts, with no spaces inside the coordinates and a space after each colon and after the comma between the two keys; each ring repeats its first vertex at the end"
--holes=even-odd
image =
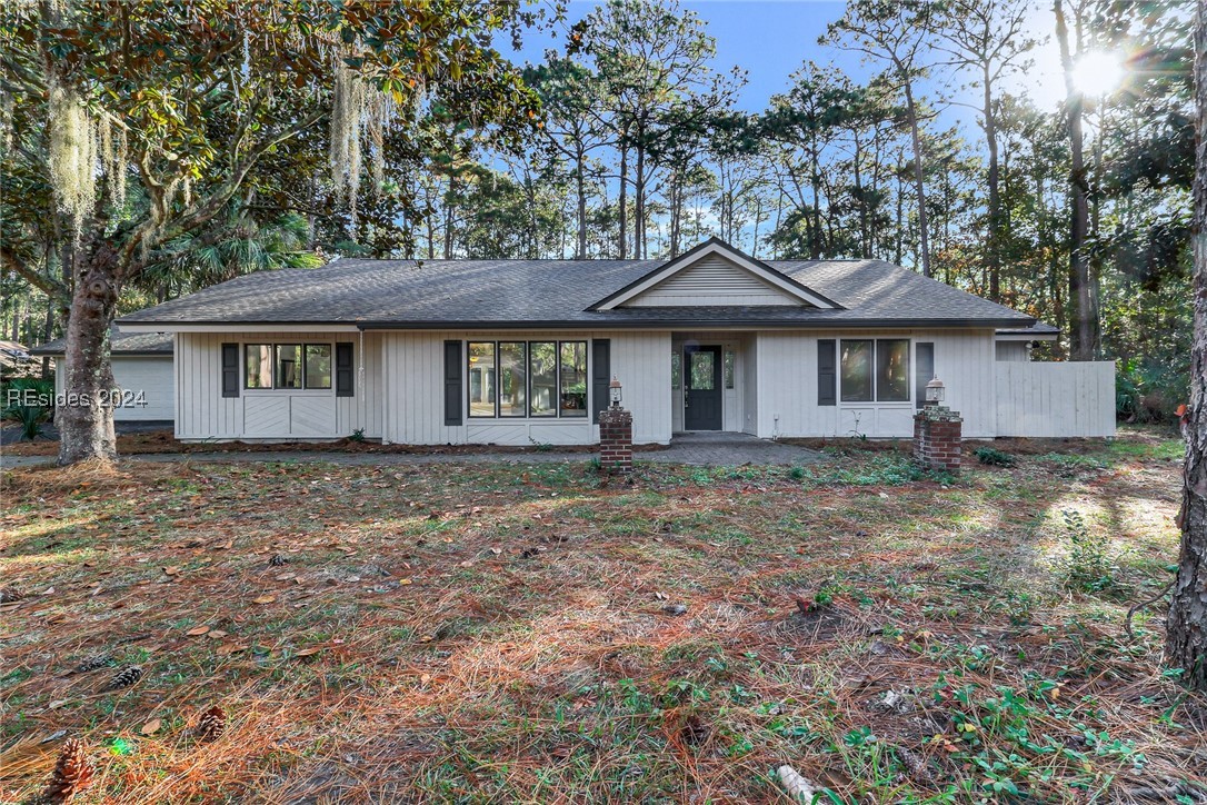
{"type": "Polygon", "coordinates": [[[59,463],[117,457],[113,434],[113,371],[109,362],[109,332],[117,305],[117,253],[104,241],[75,256],[75,290],[68,317],[63,389],[56,425],[59,463]]]}

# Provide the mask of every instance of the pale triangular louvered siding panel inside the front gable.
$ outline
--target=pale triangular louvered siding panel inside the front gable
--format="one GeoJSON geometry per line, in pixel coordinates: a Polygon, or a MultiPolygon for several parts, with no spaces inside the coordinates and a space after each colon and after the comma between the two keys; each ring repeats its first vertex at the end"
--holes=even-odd
{"type": "Polygon", "coordinates": [[[719,255],[710,255],[666,278],[625,308],[693,305],[800,305],[797,299],[719,255]]]}

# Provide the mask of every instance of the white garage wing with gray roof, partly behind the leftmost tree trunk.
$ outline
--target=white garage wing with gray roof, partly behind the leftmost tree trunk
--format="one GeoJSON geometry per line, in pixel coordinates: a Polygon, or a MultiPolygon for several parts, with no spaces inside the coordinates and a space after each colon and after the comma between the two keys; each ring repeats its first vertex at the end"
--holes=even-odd
{"type": "MultiPolygon", "coordinates": [[[[34,355],[54,358],[54,391],[63,395],[63,352],[66,340],[59,338],[33,350],[34,355]]],[[[171,368],[171,333],[123,333],[113,327],[110,352],[113,381],[122,402],[113,408],[118,422],[170,422],[176,415],[175,380],[171,368]]]]}

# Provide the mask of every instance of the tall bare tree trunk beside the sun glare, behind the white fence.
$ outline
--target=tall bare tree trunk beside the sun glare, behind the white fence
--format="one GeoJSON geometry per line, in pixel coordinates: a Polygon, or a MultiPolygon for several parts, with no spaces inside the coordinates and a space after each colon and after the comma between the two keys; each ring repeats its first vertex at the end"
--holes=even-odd
{"type": "Polygon", "coordinates": [[[1068,303],[1069,346],[1074,361],[1092,361],[1098,351],[1098,316],[1094,293],[1086,240],[1090,231],[1090,186],[1085,169],[1085,136],[1081,132],[1081,113],[1085,98],[1073,81],[1073,57],[1068,43],[1068,24],[1061,0],[1055,0],[1056,40],[1060,43],[1061,65],[1065,71],[1066,115],[1069,138],[1069,194],[1072,220],[1069,222],[1068,255],[1068,303]]]}

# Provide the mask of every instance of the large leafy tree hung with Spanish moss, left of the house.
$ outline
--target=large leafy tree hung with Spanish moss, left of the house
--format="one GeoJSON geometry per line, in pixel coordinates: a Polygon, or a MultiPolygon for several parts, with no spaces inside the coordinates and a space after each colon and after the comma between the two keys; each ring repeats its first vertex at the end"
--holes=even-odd
{"type": "MultiPolygon", "coordinates": [[[[68,313],[60,463],[116,455],[123,287],[168,244],[204,243],[262,161],[321,132],[355,222],[392,134],[438,115],[518,138],[537,116],[491,46],[535,22],[519,0],[43,0],[0,14],[6,168],[45,188],[64,270],[39,270],[10,238],[0,257],[68,313]]],[[[6,203],[4,217],[30,211],[6,203]]]]}

